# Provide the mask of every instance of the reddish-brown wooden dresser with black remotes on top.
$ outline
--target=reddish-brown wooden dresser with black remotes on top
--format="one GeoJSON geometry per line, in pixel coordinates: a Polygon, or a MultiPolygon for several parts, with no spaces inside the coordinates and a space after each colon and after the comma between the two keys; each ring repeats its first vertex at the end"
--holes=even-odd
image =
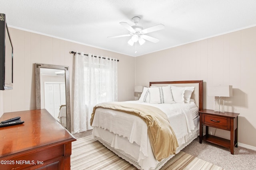
{"type": "Polygon", "coordinates": [[[4,113],[0,121],[20,116],[20,125],[0,127],[0,169],[70,170],[76,139],[46,109],[4,113]]]}

